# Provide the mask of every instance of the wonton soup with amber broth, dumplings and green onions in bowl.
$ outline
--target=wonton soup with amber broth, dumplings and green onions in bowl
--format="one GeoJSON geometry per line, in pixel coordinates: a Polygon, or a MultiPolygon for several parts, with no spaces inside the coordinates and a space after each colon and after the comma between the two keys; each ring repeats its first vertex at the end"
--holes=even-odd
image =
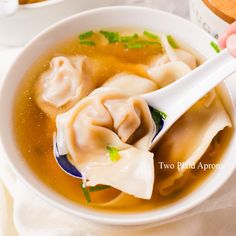
{"type": "Polygon", "coordinates": [[[166,206],[197,188],[231,134],[218,94],[198,101],[153,150],[168,114],[139,96],[198,66],[180,45],[149,31],[88,31],[35,62],[14,108],[16,140],[35,174],[65,198],[107,211],[166,206]],[[59,167],[55,148],[82,179],[59,167]]]}

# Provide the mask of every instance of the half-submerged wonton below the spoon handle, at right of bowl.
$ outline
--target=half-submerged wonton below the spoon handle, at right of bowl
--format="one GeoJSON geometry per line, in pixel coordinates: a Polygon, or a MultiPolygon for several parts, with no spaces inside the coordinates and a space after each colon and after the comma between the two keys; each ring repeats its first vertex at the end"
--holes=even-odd
{"type": "MultiPolygon", "coordinates": [[[[158,162],[174,164],[178,162],[196,165],[206,152],[213,138],[231,122],[219,98],[212,91],[187,111],[167,132],[156,151],[158,162]],[[213,97],[214,95],[214,97],[213,97]],[[209,104],[210,102],[210,104],[209,104]]],[[[187,168],[159,171],[166,176],[158,180],[158,190],[168,195],[181,188],[188,178],[187,168]]]]}

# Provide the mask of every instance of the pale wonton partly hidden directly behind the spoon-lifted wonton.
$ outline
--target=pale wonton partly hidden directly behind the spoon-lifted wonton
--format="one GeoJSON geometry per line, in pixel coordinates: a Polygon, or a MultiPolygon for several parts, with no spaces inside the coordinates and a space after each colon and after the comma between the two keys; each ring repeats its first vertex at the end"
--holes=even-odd
{"type": "Polygon", "coordinates": [[[102,87],[121,89],[128,96],[141,95],[158,89],[153,81],[129,73],[119,73],[113,76],[102,87]]]}

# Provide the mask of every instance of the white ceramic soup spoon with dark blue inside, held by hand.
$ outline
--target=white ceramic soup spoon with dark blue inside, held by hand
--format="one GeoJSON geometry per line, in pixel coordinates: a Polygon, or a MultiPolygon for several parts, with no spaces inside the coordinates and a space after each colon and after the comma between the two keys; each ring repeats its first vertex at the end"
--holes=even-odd
{"type": "MultiPolygon", "coordinates": [[[[142,95],[150,110],[157,109],[167,114],[164,124],[157,127],[157,134],[150,149],[157,144],[181,115],[235,71],[236,59],[225,49],[180,80],[155,92],[142,95]]],[[[60,167],[67,174],[81,178],[81,173],[68,161],[67,156],[59,155],[56,144],[54,149],[60,167]]]]}

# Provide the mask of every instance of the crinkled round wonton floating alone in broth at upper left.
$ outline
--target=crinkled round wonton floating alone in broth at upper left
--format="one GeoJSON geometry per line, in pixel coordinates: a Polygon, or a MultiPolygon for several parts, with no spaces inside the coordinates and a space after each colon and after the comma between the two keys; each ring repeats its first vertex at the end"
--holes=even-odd
{"type": "Polygon", "coordinates": [[[50,117],[66,111],[93,90],[86,56],[54,57],[36,85],[36,103],[50,117]]]}

